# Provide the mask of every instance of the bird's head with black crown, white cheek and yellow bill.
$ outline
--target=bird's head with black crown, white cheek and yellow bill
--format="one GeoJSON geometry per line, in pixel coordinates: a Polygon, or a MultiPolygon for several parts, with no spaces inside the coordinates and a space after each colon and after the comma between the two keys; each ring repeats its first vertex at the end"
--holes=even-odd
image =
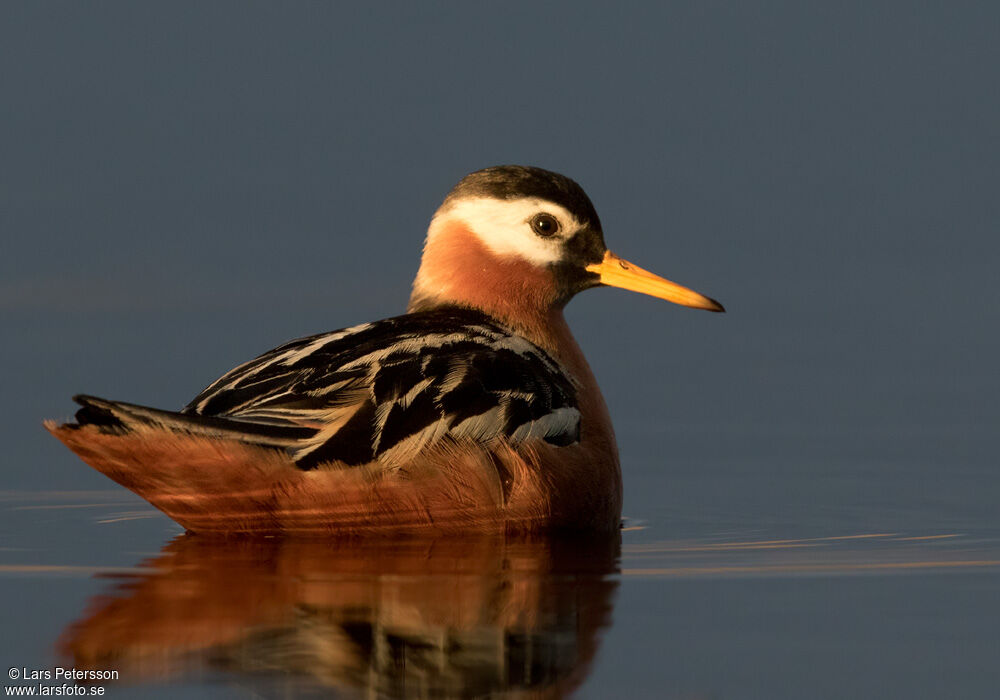
{"type": "Polygon", "coordinates": [[[504,165],[466,175],[435,213],[410,310],[457,304],[516,323],[599,286],[724,310],[608,250],[594,205],[573,180],[504,165]]]}

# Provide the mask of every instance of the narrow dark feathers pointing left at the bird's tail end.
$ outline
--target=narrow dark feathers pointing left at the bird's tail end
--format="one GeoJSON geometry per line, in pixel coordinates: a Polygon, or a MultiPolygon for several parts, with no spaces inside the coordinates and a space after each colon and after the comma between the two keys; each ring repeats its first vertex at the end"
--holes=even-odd
{"type": "Polygon", "coordinates": [[[163,411],[148,406],[109,401],[96,396],[77,395],[73,400],[82,406],[76,412],[77,426],[92,425],[107,433],[129,433],[139,427],[153,427],[190,435],[226,437],[256,445],[289,447],[312,437],[313,428],[252,423],[219,416],[163,411]]]}

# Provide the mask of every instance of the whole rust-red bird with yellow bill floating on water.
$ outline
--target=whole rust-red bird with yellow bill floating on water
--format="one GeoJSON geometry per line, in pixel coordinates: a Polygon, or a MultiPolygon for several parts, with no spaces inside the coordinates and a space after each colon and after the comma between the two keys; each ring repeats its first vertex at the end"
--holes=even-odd
{"type": "Polygon", "coordinates": [[[431,219],[404,315],[293,340],[180,411],[76,396],[45,426],[197,533],[613,530],[614,431],[563,318],[599,286],[724,310],[609,251],[573,180],[479,170],[431,219]]]}

